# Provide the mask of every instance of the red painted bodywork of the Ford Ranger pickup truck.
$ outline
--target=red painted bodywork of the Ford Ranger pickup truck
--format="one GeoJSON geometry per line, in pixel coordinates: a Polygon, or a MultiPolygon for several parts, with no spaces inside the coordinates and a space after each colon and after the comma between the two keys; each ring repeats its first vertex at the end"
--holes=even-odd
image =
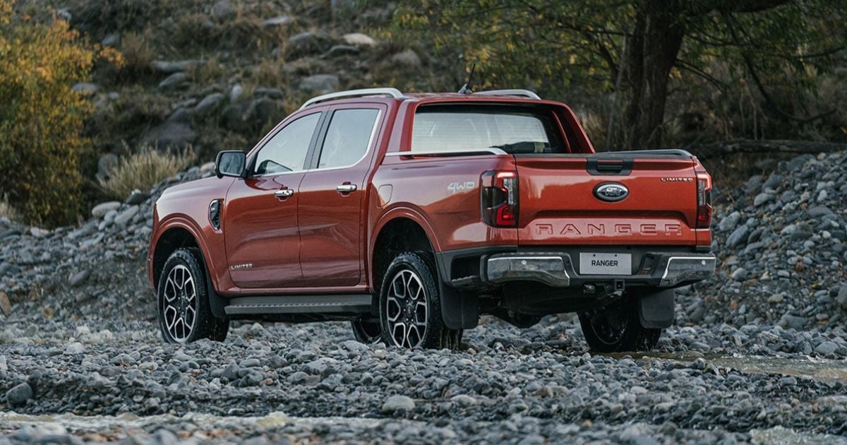
{"type": "MultiPolygon", "coordinates": [[[[689,179],[695,178],[695,170],[702,171],[696,159],[635,155],[628,175],[590,175],[587,159],[603,155],[594,153],[573,111],[562,103],[458,94],[345,99],[291,114],[269,135],[302,115],[328,116],[340,108],[381,110],[374,141],[351,167],[208,178],[163,193],[154,212],[151,281],[158,241],[171,229],[191,233],[214,288],[227,297],[368,292],[380,279],[370,270],[374,243],[379,231],[396,218],[420,225],[436,252],[493,246],[711,244],[711,231],[693,228],[696,181],[689,179]],[[386,156],[410,149],[418,107],[449,103],[545,107],[555,115],[570,154],[386,156]],[[489,170],[518,173],[518,227],[497,228],[482,220],[480,178],[489,170]],[[335,190],[346,182],[355,184],[357,191],[342,195],[335,190]],[[630,196],[602,202],[593,194],[601,182],[623,184],[630,196]],[[295,193],[284,201],[274,197],[282,187],[295,193]],[[224,199],[220,231],[208,221],[213,199],[224,199]],[[238,268],[240,264],[252,267],[238,268]]],[[[248,165],[269,135],[247,154],[248,165]]],[[[317,144],[315,148],[320,141],[317,144]]]]}

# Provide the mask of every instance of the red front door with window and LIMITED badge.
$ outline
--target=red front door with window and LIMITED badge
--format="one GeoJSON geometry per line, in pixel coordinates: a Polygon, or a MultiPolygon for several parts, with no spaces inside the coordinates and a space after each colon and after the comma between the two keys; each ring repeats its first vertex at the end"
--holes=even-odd
{"type": "Polygon", "coordinates": [[[246,179],[224,203],[224,242],[230,276],[245,288],[302,285],[297,193],[321,113],[286,124],[251,159],[246,179]]]}

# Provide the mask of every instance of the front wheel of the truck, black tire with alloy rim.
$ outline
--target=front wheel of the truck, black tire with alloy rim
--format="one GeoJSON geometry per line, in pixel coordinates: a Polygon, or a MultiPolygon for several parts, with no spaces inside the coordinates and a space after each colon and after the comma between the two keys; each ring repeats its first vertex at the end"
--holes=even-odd
{"type": "Polygon", "coordinates": [[[165,342],[190,343],[203,338],[223,342],[226,339],[230,320],[212,314],[204,268],[202,253],[197,248],[180,248],[165,262],[157,290],[159,327],[165,342]],[[185,302],[181,306],[180,298],[185,302]],[[180,325],[185,328],[180,329],[180,325]]]}

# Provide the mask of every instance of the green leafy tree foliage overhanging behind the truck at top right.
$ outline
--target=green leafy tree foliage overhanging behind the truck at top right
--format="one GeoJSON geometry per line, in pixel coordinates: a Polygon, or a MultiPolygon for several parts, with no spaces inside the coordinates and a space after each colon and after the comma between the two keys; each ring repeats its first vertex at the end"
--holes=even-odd
{"type": "MultiPolygon", "coordinates": [[[[847,43],[845,20],[845,0],[412,0],[399,4],[383,31],[398,47],[448,61],[433,68],[442,87],[461,85],[475,63],[476,89],[526,87],[564,100],[601,116],[595,126],[620,147],[631,142],[631,129],[615,128],[634,125],[633,116],[650,108],[639,97],[670,97],[666,120],[700,114],[698,125],[722,129],[715,137],[761,137],[764,125],[767,136],[790,136],[821,122],[808,118],[816,117],[821,75],[847,43]],[[681,31],[678,52],[662,54],[669,39],[656,17],[681,31]],[[639,47],[645,37],[652,43],[639,47]],[[655,85],[642,94],[649,79],[639,74],[662,57],[673,64],[668,95],[649,97],[655,85]]],[[[666,123],[660,131],[670,136],[676,130],[668,125],[688,126],[666,123]]]]}

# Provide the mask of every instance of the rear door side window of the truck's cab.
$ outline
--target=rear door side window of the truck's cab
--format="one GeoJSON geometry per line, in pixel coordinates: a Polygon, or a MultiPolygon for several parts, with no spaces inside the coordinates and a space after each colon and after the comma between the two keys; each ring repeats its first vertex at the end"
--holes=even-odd
{"type": "Polygon", "coordinates": [[[318,160],[318,169],[349,167],[368,152],[379,118],[379,109],[339,109],[332,114],[318,160]]]}

